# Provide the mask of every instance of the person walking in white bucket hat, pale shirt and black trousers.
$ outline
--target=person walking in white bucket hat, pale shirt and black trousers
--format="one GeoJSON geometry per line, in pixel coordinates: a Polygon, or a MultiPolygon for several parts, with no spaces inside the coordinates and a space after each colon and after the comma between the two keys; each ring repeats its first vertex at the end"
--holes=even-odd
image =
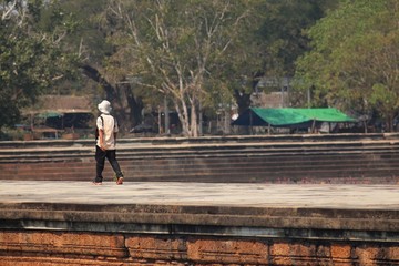
{"type": "Polygon", "coordinates": [[[96,120],[98,139],[95,145],[96,175],[94,185],[101,185],[103,181],[105,158],[110,162],[116,174],[116,184],[123,184],[123,174],[116,161],[116,134],[119,131],[116,120],[110,114],[111,103],[103,100],[98,105],[101,115],[96,120]]]}

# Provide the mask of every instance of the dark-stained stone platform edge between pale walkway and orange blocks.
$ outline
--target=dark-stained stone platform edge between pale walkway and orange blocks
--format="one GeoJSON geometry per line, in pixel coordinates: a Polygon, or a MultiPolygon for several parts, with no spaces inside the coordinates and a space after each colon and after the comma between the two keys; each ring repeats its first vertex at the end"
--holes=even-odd
{"type": "Polygon", "coordinates": [[[399,242],[399,211],[0,203],[0,231],[399,242]]]}

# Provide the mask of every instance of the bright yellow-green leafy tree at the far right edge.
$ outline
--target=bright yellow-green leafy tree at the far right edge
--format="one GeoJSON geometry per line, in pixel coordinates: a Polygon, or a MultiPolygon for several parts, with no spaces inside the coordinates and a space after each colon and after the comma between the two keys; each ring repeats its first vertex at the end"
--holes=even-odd
{"type": "Polygon", "coordinates": [[[299,90],[313,88],[313,104],[376,110],[388,129],[399,111],[399,3],[341,1],[308,31],[313,50],[297,62],[299,90]]]}

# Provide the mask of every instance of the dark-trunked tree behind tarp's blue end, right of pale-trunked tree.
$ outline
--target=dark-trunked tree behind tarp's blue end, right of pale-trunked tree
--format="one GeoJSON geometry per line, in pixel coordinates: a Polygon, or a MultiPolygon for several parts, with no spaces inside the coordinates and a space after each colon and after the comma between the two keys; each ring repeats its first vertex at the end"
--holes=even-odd
{"type": "MultiPolygon", "coordinates": [[[[247,110],[258,82],[266,78],[280,80],[293,76],[295,60],[309,50],[309,38],[303,31],[325,16],[336,0],[268,0],[253,1],[249,25],[241,35],[245,63],[235,75],[245,76],[245,86],[231,84],[238,113],[247,110]]],[[[243,53],[243,52],[242,52],[243,53]]],[[[241,81],[243,83],[243,81],[241,81]]],[[[280,88],[274,88],[280,89],[280,88]]]]}

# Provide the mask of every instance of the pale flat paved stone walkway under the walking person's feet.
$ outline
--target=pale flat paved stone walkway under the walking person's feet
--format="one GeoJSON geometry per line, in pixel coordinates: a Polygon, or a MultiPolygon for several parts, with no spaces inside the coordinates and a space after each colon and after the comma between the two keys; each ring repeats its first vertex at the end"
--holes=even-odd
{"type": "Polygon", "coordinates": [[[399,209],[399,185],[1,181],[0,203],[399,209]]]}

